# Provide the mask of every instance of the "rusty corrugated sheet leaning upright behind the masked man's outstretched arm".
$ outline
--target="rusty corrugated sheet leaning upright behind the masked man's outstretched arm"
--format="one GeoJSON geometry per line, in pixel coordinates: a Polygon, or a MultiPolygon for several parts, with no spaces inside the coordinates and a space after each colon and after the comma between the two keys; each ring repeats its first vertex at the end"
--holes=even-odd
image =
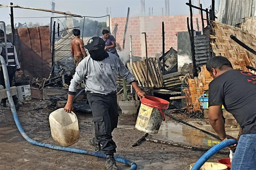
{"type": "MultiPolygon", "coordinates": [[[[130,62],[127,63],[130,66],[130,62]]],[[[130,70],[130,67],[128,67],[130,70]]],[[[138,81],[139,86],[147,86],[147,67],[146,60],[132,63],[132,73],[138,81]]],[[[148,58],[148,86],[162,87],[163,75],[160,67],[159,58],[148,58]]]]}

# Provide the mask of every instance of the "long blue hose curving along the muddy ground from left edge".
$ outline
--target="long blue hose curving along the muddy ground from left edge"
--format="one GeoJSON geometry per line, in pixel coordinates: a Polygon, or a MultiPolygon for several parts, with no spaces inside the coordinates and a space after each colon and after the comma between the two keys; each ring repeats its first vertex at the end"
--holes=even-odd
{"type": "MultiPolygon", "coordinates": [[[[97,156],[97,157],[101,157],[101,158],[106,158],[106,154],[104,153],[100,153],[100,152],[94,152],[94,151],[88,151],[88,150],[83,150],[83,149],[76,149],[76,148],[69,148],[69,147],[63,147],[63,146],[58,146],[58,145],[53,145],[53,144],[46,144],[46,143],[42,143],[42,142],[37,142],[33,139],[31,139],[30,137],[28,137],[28,135],[24,132],[21,124],[20,124],[20,120],[19,117],[17,115],[16,109],[15,109],[15,105],[13,103],[12,100],[12,93],[10,91],[10,84],[9,84],[9,78],[8,78],[8,73],[7,73],[7,68],[6,68],[6,63],[4,61],[4,57],[0,55],[0,61],[2,63],[2,68],[3,68],[3,72],[4,72],[4,81],[5,81],[5,87],[6,87],[6,92],[7,92],[7,96],[8,96],[8,100],[11,106],[11,110],[12,110],[12,115],[14,118],[14,121],[16,123],[17,128],[20,131],[20,134],[31,144],[37,145],[37,146],[44,146],[46,148],[51,148],[51,149],[56,149],[56,150],[61,150],[61,151],[68,151],[68,152],[75,152],[75,153],[82,153],[82,154],[86,154],[86,155],[92,155],[92,156],[97,156]]],[[[132,162],[128,159],[124,159],[118,156],[115,156],[116,161],[118,162],[122,162],[128,166],[131,166],[129,170],[135,170],[137,169],[137,165],[135,162],[132,162]]]]}

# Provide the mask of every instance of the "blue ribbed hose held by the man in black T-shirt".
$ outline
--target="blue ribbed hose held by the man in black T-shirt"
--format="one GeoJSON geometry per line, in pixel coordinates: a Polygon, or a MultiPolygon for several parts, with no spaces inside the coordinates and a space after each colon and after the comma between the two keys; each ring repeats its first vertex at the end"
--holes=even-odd
{"type": "Polygon", "coordinates": [[[211,158],[212,155],[214,155],[216,152],[220,151],[221,149],[231,146],[233,144],[237,144],[235,139],[228,139],[220,142],[219,144],[216,144],[211,149],[209,149],[207,152],[204,153],[204,155],[198,159],[195,163],[195,165],[191,168],[191,170],[199,170],[201,166],[204,165],[204,163],[211,158]]]}

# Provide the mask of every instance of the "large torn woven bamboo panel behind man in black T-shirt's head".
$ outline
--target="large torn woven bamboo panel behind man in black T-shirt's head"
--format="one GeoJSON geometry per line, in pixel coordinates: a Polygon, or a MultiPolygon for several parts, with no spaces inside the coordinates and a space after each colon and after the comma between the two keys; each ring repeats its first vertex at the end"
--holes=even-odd
{"type": "MultiPolygon", "coordinates": [[[[238,45],[229,36],[233,34],[247,46],[256,50],[256,39],[254,36],[240,28],[228,26],[218,22],[212,22],[211,46],[215,55],[226,57],[234,69],[248,70],[245,65],[256,67],[256,56],[245,48],[238,45]]],[[[209,83],[212,81],[206,66],[201,67],[201,72],[197,78],[188,78],[188,89],[185,90],[187,105],[193,106],[193,111],[202,110],[199,97],[208,90],[209,83]]]]}

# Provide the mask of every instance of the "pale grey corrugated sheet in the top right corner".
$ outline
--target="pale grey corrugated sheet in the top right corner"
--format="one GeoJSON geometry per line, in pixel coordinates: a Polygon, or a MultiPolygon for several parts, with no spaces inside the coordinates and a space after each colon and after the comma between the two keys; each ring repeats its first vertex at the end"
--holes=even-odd
{"type": "Polygon", "coordinates": [[[220,0],[217,22],[235,26],[244,17],[256,16],[255,0],[220,0]]]}

